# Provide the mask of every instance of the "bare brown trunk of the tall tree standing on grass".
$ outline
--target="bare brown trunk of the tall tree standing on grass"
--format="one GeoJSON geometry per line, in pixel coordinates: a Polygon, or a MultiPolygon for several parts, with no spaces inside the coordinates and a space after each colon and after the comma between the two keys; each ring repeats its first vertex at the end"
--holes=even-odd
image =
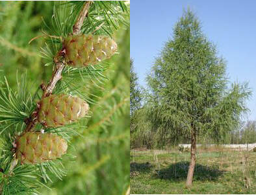
{"type": "Polygon", "coordinates": [[[191,130],[191,147],[190,147],[190,165],[188,168],[188,176],[186,177],[186,187],[192,186],[194,168],[196,165],[196,132],[194,128],[191,130]]]}

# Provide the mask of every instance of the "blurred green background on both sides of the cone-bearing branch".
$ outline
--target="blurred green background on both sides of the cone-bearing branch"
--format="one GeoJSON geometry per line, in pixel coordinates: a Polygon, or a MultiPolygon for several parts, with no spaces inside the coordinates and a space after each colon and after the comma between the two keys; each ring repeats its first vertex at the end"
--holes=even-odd
{"type": "MultiPolygon", "coordinates": [[[[42,35],[42,17],[51,27],[53,5],[53,1],[0,1],[0,69],[10,87],[16,87],[17,71],[27,71],[31,93],[49,80],[53,67],[45,67],[40,57],[44,38],[29,41],[42,35]]],[[[62,181],[52,177],[53,182],[46,184],[51,190],[44,188],[42,194],[125,194],[129,187],[129,29],[121,27],[114,39],[120,54],[108,60],[109,80],[88,87],[97,104],[90,105],[93,114],[80,132],[84,137],[71,140],[68,152],[76,157],[64,157],[66,176],[62,181]]]]}

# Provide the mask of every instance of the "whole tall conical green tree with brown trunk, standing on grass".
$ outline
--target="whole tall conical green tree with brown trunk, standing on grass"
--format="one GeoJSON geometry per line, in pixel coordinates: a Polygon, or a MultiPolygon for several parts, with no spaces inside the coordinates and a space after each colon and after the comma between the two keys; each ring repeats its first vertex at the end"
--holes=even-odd
{"type": "Polygon", "coordinates": [[[151,117],[162,139],[172,138],[175,143],[190,137],[187,187],[192,185],[197,137],[207,134],[221,139],[238,126],[241,114],[248,110],[247,84],[235,83],[228,88],[225,66],[216,47],[203,35],[196,16],[187,10],[147,76],[151,117]]]}

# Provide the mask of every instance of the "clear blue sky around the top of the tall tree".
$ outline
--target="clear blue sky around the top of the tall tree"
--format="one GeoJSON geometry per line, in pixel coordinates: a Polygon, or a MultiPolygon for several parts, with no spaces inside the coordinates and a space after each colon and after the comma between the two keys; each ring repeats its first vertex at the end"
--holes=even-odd
{"type": "Polygon", "coordinates": [[[256,120],[256,1],[140,0],[131,1],[131,58],[140,85],[146,87],[155,58],[172,38],[175,23],[187,7],[198,16],[203,33],[216,44],[227,61],[231,82],[249,82],[253,95],[248,100],[256,120]]]}

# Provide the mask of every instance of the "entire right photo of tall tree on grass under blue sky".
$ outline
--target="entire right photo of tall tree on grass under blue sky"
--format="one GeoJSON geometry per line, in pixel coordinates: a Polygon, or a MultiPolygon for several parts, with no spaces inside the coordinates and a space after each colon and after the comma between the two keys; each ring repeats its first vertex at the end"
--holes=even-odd
{"type": "Polygon", "coordinates": [[[256,194],[256,1],[132,1],[131,194],[256,194]]]}

